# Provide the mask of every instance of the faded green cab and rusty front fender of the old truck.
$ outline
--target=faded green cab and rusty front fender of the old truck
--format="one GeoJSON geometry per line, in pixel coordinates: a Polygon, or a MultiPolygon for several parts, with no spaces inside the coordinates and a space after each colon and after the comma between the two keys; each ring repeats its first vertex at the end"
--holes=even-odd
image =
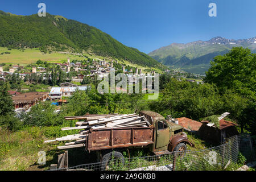
{"type": "Polygon", "coordinates": [[[156,155],[172,151],[186,151],[186,144],[195,147],[189,142],[182,126],[166,121],[162,115],[153,111],[140,111],[139,115],[144,115],[147,121],[154,126],[154,143],[149,146],[149,149],[156,155]]]}

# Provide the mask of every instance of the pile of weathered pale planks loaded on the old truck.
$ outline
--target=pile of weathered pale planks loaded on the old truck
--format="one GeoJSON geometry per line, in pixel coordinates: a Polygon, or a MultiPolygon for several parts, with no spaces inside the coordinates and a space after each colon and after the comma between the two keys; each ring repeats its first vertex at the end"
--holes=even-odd
{"type": "Polygon", "coordinates": [[[86,139],[90,129],[109,129],[124,127],[147,127],[150,123],[144,116],[133,114],[86,114],[81,116],[64,117],[66,120],[84,120],[76,122],[76,127],[64,127],[61,130],[80,130],[79,134],[67,135],[65,137],[47,140],[44,143],[55,141],[72,141],[59,149],[85,147],[86,139]]]}

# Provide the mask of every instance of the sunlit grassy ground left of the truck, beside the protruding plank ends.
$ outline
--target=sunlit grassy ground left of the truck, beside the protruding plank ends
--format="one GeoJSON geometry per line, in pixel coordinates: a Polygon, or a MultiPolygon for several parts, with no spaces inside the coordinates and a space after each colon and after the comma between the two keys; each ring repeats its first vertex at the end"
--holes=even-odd
{"type": "Polygon", "coordinates": [[[57,162],[57,154],[62,151],[56,146],[61,143],[47,144],[44,140],[73,134],[74,131],[60,132],[64,126],[24,127],[11,132],[1,129],[0,133],[0,169],[1,170],[44,170],[57,162]],[[46,165],[38,164],[38,152],[46,152],[46,165]]]}

